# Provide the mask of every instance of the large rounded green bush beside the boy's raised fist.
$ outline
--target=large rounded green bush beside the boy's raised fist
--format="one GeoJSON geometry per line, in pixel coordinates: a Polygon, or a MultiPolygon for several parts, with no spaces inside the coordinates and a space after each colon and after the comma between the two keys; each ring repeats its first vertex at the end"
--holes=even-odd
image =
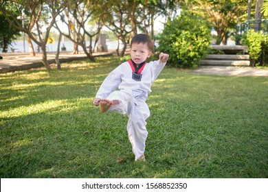
{"type": "Polygon", "coordinates": [[[208,54],[210,29],[208,22],[200,16],[183,12],[166,23],[159,36],[158,51],[169,53],[168,64],[173,67],[194,67],[208,54]]]}

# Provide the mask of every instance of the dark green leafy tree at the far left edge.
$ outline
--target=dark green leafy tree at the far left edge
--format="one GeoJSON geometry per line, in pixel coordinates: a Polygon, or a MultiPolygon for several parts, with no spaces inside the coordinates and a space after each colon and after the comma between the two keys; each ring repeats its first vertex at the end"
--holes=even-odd
{"type": "MultiPolygon", "coordinates": [[[[19,15],[17,12],[14,14],[19,15]]],[[[9,16],[10,18],[10,16],[9,16]]],[[[18,29],[14,29],[10,23],[8,23],[8,20],[5,19],[5,16],[3,16],[3,13],[0,12],[0,47],[2,48],[2,52],[8,51],[8,45],[12,45],[13,40],[15,40],[19,34],[18,29]]]]}

